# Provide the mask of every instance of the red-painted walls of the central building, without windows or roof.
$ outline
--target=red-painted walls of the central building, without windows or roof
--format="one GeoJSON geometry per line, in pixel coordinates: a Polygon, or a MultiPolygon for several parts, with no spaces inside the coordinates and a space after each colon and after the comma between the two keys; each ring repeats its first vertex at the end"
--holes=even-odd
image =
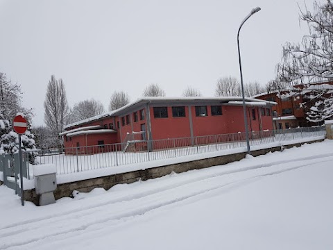
{"type": "MultiPolygon", "coordinates": [[[[167,118],[159,118],[154,117],[154,109],[153,107],[149,108],[150,111],[150,124],[151,124],[151,140],[165,140],[171,138],[191,138],[191,125],[192,124],[192,132],[193,137],[197,138],[200,136],[206,135],[223,135],[228,133],[238,133],[244,132],[244,114],[242,106],[226,106],[222,105],[222,115],[212,115],[211,106],[207,105],[207,115],[205,116],[196,116],[196,106],[190,106],[191,109],[191,121],[189,117],[189,106],[185,106],[185,117],[173,117],[172,106],[168,106],[168,117],[167,118]]],[[[93,125],[101,125],[105,128],[110,128],[110,123],[114,124],[114,130],[117,133],[104,133],[104,134],[92,134],[87,135],[78,135],[71,137],[71,141],[67,140],[65,142],[65,147],[76,147],[77,142],[80,144],[80,147],[97,145],[99,140],[103,140],[105,144],[114,144],[126,141],[126,136],[128,133],[139,132],[142,131],[142,124],[144,124],[144,130],[146,131],[145,138],[147,138],[147,129],[149,121],[147,117],[147,112],[144,110],[145,117],[141,119],[140,110],[144,110],[144,108],[139,108],[134,112],[126,113],[121,117],[105,117],[99,121],[90,122],[89,124],[85,124],[84,126],[93,126],[93,125]],[[134,122],[134,113],[137,113],[138,120],[134,122]],[[126,116],[129,115],[129,120],[127,124],[126,116]],[[125,124],[123,125],[122,117],[125,119],[125,124]],[[118,127],[119,122],[119,127],[118,127]],[[86,141],[87,139],[87,141],[86,141]]],[[[249,131],[259,131],[262,130],[272,130],[273,122],[272,117],[268,115],[261,116],[259,107],[247,107],[247,115],[248,115],[248,124],[249,131]],[[255,110],[255,120],[253,119],[252,110],[255,110]],[[261,117],[260,117],[261,116],[261,117]],[[260,121],[262,121],[262,126],[260,126],[260,121]]],[[[271,112],[270,112],[271,113],[271,112]]],[[[266,114],[266,109],[265,109],[266,114]]],[[[272,113],[271,113],[272,115],[272,113]]],[[[72,128],[74,129],[74,128],[72,128]]],[[[142,135],[138,135],[134,138],[134,140],[141,140],[142,135]]],[[[216,140],[216,138],[210,138],[210,140],[216,140]]],[[[196,141],[197,143],[198,140],[196,141]]],[[[208,142],[200,142],[200,144],[204,143],[212,143],[208,142]]],[[[171,142],[170,142],[171,143],[171,142]]],[[[178,140],[179,143],[179,140],[178,140]]],[[[189,144],[194,144],[193,140],[184,140],[184,142],[180,142],[179,146],[187,146],[189,144]]],[[[174,145],[170,144],[170,147],[174,145]]],[[[144,145],[147,147],[147,145],[144,145]]],[[[154,148],[161,148],[159,145],[153,145],[154,148]]]]}

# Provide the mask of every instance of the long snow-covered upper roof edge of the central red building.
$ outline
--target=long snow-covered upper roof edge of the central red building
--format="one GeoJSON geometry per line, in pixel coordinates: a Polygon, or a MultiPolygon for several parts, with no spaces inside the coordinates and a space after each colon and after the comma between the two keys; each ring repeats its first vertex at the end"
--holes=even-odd
{"type": "MultiPolygon", "coordinates": [[[[88,122],[96,121],[98,119],[104,118],[104,117],[112,117],[117,115],[118,113],[121,113],[121,111],[126,110],[126,108],[130,108],[132,106],[135,106],[139,103],[154,103],[154,102],[161,102],[161,101],[170,101],[170,102],[193,102],[193,101],[220,101],[221,103],[228,103],[230,101],[242,101],[242,97],[144,97],[141,99],[137,99],[137,101],[133,101],[132,103],[128,103],[126,106],[123,106],[117,110],[109,111],[108,113],[104,113],[101,115],[96,115],[94,117],[90,117],[88,119],[84,119],[79,122],[74,122],[72,124],[68,124],[65,126],[66,128],[71,128],[73,126],[78,126],[80,124],[85,124],[88,122]]],[[[266,105],[276,105],[274,101],[264,101],[260,99],[255,98],[249,98],[246,97],[245,101],[250,102],[263,102],[266,103],[266,105]]]]}

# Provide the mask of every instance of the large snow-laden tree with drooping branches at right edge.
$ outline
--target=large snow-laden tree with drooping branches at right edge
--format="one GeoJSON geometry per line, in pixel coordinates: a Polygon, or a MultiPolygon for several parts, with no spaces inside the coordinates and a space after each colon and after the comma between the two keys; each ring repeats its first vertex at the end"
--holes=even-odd
{"type": "MultiPolygon", "coordinates": [[[[283,47],[279,80],[292,86],[302,85],[302,89],[311,83],[333,81],[332,1],[314,1],[313,12],[305,6],[305,10],[300,10],[300,21],[307,22],[309,33],[303,36],[301,44],[287,42],[283,47]]],[[[314,94],[302,106],[310,122],[323,123],[324,119],[333,118],[333,94],[327,91],[314,94]]]]}

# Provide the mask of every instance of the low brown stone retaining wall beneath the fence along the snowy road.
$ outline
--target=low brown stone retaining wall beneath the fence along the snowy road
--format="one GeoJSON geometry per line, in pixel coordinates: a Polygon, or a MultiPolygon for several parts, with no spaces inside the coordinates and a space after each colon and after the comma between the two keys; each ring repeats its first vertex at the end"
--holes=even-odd
{"type": "MultiPolygon", "coordinates": [[[[314,141],[319,142],[322,140],[314,141]]],[[[311,143],[311,142],[306,142],[311,143]]],[[[300,147],[301,143],[286,145],[284,148],[291,147],[300,147]]],[[[268,152],[280,151],[281,147],[273,147],[270,149],[261,149],[257,151],[251,151],[253,156],[260,156],[268,152]]],[[[53,192],[56,199],[62,197],[71,197],[71,194],[74,190],[79,192],[90,192],[94,188],[104,188],[105,190],[110,189],[112,186],[121,184],[121,183],[134,183],[139,181],[141,178],[142,181],[146,181],[151,178],[158,178],[171,174],[171,172],[182,173],[187,172],[192,169],[203,169],[207,167],[224,165],[227,163],[232,163],[237,160],[245,158],[246,153],[233,153],[227,156],[218,156],[214,158],[207,158],[201,160],[194,160],[187,163],[177,163],[172,165],[166,165],[162,167],[153,167],[150,169],[137,170],[134,172],[128,172],[123,174],[113,174],[110,176],[102,176],[99,178],[92,178],[83,181],[76,181],[73,183],[64,183],[58,185],[57,189],[53,192]]],[[[24,199],[26,201],[32,201],[36,205],[39,203],[39,196],[35,193],[35,190],[25,190],[24,199]]]]}

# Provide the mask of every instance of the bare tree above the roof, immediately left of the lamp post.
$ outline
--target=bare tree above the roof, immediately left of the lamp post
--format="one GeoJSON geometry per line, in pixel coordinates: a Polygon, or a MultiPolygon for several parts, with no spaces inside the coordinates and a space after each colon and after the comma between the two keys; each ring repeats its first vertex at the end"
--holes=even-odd
{"type": "Polygon", "coordinates": [[[219,78],[215,88],[216,97],[240,97],[241,85],[237,78],[227,76],[219,78]]]}

